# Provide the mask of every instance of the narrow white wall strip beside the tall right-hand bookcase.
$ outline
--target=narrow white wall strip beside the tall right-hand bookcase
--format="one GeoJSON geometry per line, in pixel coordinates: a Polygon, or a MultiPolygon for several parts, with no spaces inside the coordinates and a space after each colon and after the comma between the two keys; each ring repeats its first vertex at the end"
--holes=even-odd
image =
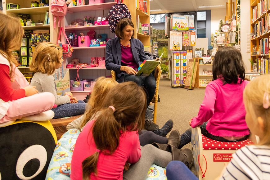
{"type": "MultiPolygon", "coordinates": [[[[241,0],[241,53],[245,63],[245,70],[250,71],[250,52],[247,53],[246,34],[250,33],[250,1],[241,0]]],[[[250,48],[250,47],[249,47],[250,48]]]]}

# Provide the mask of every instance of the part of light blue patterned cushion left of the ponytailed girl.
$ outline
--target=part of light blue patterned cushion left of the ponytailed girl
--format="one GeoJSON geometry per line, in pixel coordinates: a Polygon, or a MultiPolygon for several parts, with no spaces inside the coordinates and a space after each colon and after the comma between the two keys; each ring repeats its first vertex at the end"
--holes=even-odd
{"type": "Polygon", "coordinates": [[[79,134],[79,130],[70,129],[56,143],[46,180],[70,179],[71,156],[79,134]]]}

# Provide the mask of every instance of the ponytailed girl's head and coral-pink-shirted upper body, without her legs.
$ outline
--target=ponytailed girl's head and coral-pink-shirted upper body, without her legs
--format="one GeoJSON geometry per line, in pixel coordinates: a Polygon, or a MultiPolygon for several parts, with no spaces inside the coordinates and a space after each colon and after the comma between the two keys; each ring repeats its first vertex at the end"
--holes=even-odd
{"type": "Polygon", "coordinates": [[[85,125],[71,160],[73,179],[123,179],[128,163],[141,157],[146,94],[134,82],[117,84],[106,95],[99,116],[85,125]],[[119,93],[121,92],[121,93],[119,93]]]}

